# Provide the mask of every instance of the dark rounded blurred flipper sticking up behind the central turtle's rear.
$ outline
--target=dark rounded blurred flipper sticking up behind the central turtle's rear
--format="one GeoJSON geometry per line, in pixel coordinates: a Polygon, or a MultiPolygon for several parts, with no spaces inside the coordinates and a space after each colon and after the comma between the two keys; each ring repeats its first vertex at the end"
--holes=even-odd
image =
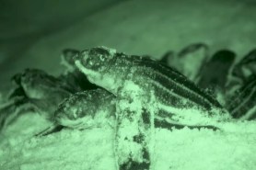
{"type": "Polygon", "coordinates": [[[227,84],[228,72],[235,61],[235,53],[233,51],[222,50],[217,51],[214,56],[204,65],[201,71],[198,85],[202,88],[219,87],[224,90],[227,84]]]}

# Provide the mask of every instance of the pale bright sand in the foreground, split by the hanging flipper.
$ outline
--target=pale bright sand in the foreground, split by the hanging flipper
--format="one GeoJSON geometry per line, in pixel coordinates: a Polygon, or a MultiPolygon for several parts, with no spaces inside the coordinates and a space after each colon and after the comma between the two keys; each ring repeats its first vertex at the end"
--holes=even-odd
{"type": "MultiPolygon", "coordinates": [[[[111,127],[62,130],[41,138],[32,137],[44,126],[46,123],[37,115],[28,114],[9,127],[6,134],[12,131],[13,135],[2,143],[1,169],[115,169],[111,127]],[[32,123],[36,119],[37,125],[32,123]]],[[[157,129],[155,169],[254,169],[255,121],[222,123],[220,127],[222,130],[218,131],[157,129]]]]}

